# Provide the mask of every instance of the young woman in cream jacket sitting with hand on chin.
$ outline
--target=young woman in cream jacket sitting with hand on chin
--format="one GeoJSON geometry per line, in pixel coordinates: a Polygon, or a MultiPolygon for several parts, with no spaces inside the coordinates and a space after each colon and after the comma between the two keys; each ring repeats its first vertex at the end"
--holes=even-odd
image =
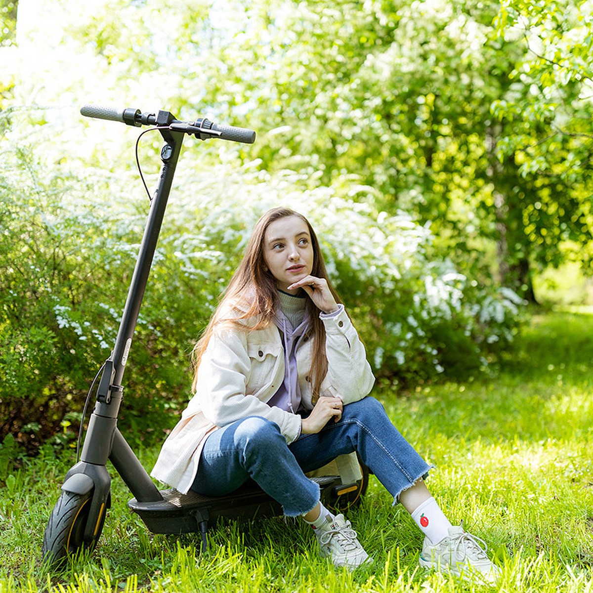
{"type": "Polygon", "coordinates": [[[251,478],[311,525],[322,556],[352,569],[372,559],[305,473],[356,451],[425,535],[422,566],[496,580],[479,538],[452,526],[426,488],[430,466],[368,396],[364,346],[304,216],[260,218],[193,362],[195,395],[152,476],[208,496],[251,478]]]}

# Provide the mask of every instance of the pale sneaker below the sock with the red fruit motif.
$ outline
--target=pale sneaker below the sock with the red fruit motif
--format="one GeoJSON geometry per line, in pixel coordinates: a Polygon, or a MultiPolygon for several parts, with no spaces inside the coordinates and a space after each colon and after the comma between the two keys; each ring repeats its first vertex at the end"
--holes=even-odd
{"type": "Polygon", "coordinates": [[[449,537],[436,546],[428,537],[424,538],[420,566],[452,572],[466,581],[478,577],[495,585],[500,577],[500,568],[486,556],[487,549],[484,540],[463,531],[462,522],[461,525],[449,527],[449,537]]]}

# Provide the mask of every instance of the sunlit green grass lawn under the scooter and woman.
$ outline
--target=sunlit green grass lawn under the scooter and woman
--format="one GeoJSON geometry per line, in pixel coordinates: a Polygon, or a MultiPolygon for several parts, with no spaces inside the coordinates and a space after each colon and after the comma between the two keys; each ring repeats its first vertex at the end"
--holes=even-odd
{"type": "MultiPolygon", "coordinates": [[[[494,376],[375,394],[435,464],[428,485],[452,522],[486,540],[500,591],[593,591],[592,336],[593,315],[535,316],[494,376]]],[[[139,452],[147,467],[156,454],[139,452]]],[[[349,512],[375,558],[355,573],[321,560],[310,531],[282,518],[229,521],[200,557],[197,537],[149,534],[117,477],[95,553],[48,573],[43,530],[71,464],[44,449],[0,482],[0,593],[490,590],[419,569],[422,536],[374,477],[349,512]]]]}

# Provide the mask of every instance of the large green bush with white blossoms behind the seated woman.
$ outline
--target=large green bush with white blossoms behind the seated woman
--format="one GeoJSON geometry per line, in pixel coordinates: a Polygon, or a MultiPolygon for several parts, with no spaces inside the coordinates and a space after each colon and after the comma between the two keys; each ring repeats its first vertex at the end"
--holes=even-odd
{"type": "MultiPolygon", "coordinates": [[[[311,180],[295,173],[202,170],[193,158],[177,170],[130,352],[119,422],[130,441],[160,441],[184,407],[189,352],[272,206],[314,224],[378,375],[410,382],[476,369],[512,337],[516,295],[429,259],[430,229],[405,213],[375,212],[370,194],[303,189],[311,180]]],[[[11,432],[30,448],[75,438],[88,385],[114,343],[148,211],[145,197],[130,199],[127,172],[55,171],[42,174],[21,152],[0,177],[0,441],[11,432]]]]}

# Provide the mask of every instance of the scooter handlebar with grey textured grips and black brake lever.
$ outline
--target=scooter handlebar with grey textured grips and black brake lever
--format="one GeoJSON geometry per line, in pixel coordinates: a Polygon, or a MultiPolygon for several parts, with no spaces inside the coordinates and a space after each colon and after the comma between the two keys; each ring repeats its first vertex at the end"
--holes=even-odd
{"type": "MultiPolygon", "coordinates": [[[[155,125],[157,117],[154,113],[142,113],[139,109],[113,109],[113,107],[103,107],[100,105],[87,104],[81,107],[81,115],[85,117],[96,117],[98,119],[107,119],[113,122],[126,123],[129,126],[155,125]]],[[[256,139],[254,130],[245,127],[226,126],[219,123],[213,123],[208,119],[200,118],[195,122],[180,122],[174,119],[170,122],[171,130],[194,134],[196,138],[205,140],[206,138],[221,138],[230,142],[243,142],[244,144],[253,144],[256,139]]]]}

